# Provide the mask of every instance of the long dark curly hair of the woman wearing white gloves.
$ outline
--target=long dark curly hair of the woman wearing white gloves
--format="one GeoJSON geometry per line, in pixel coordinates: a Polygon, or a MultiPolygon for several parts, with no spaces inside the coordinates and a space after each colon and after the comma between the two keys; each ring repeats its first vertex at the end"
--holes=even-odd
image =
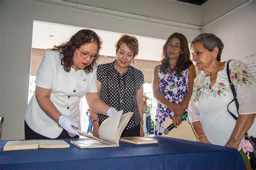
{"type": "Polygon", "coordinates": [[[60,52],[60,61],[62,66],[66,72],[70,72],[71,66],[73,65],[75,50],[91,42],[98,45],[98,52],[92,63],[84,68],[84,72],[88,74],[91,73],[93,68],[96,66],[96,61],[99,58],[99,51],[102,48],[102,39],[100,39],[96,32],[88,29],[80,30],[73,35],[69,41],[58,46],[55,45],[52,50],[58,50],[60,52]]]}

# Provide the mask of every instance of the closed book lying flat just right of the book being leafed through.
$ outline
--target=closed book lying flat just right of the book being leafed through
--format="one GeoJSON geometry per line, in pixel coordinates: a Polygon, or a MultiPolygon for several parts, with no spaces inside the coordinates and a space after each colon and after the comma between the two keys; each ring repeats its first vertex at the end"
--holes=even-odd
{"type": "Polygon", "coordinates": [[[157,144],[157,139],[145,138],[145,137],[123,137],[120,141],[124,141],[131,144],[142,145],[142,144],[157,144]]]}

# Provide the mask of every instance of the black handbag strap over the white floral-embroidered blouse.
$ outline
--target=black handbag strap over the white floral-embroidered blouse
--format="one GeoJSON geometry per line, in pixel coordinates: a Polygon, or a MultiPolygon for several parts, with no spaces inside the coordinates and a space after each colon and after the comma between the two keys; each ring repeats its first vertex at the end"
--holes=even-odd
{"type": "MultiPolygon", "coordinates": [[[[237,107],[237,113],[239,114],[239,104],[238,104],[238,100],[237,100],[237,93],[235,92],[235,88],[234,88],[234,84],[232,83],[231,79],[230,79],[230,67],[228,65],[228,63],[230,63],[231,60],[228,60],[227,61],[227,79],[228,79],[228,82],[230,83],[230,88],[231,88],[231,91],[232,91],[232,94],[234,96],[233,100],[228,103],[227,105],[227,111],[228,113],[230,113],[230,115],[235,119],[235,121],[237,121],[237,116],[235,116],[229,109],[228,107],[230,106],[230,104],[232,102],[235,102],[235,106],[237,107]]],[[[245,133],[245,136],[248,136],[247,132],[245,133]]]]}

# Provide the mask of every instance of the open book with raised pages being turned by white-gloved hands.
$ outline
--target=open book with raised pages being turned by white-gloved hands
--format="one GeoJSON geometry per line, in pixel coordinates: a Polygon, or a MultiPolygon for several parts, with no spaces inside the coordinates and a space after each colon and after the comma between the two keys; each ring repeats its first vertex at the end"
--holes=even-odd
{"type": "Polygon", "coordinates": [[[118,111],[116,114],[107,118],[99,126],[99,137],[91,136],[88,133],[82,132],[77,128],[74,128],[82,136],[91,138],[93,140],[71,140],[71,144],[80,148],[93,148],[93,147],[111,147],[119,146],[119,140],[121,134],[132,117],[133,112],[127,112],[123,114],[123,111],[118,111]]]}

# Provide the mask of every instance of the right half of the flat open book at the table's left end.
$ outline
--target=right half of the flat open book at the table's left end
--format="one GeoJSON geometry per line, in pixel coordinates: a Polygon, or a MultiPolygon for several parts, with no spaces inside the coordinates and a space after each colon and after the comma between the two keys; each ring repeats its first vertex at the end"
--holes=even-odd
{"type": "Polygon", "coordinates": [[[38,140],[39,148],[67,148],[70,147],[64,140],[38,140]]]}

